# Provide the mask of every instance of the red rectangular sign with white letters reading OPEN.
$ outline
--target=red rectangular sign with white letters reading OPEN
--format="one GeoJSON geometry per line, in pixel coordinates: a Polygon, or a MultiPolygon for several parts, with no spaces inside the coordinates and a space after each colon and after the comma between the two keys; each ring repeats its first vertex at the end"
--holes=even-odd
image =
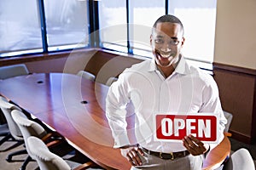
{"type": "Polygon", "coordinates": [[[201,141],[218,141],[218,115],[156,115],[156,140],[180,140],[192,134],[201,141]]]}

